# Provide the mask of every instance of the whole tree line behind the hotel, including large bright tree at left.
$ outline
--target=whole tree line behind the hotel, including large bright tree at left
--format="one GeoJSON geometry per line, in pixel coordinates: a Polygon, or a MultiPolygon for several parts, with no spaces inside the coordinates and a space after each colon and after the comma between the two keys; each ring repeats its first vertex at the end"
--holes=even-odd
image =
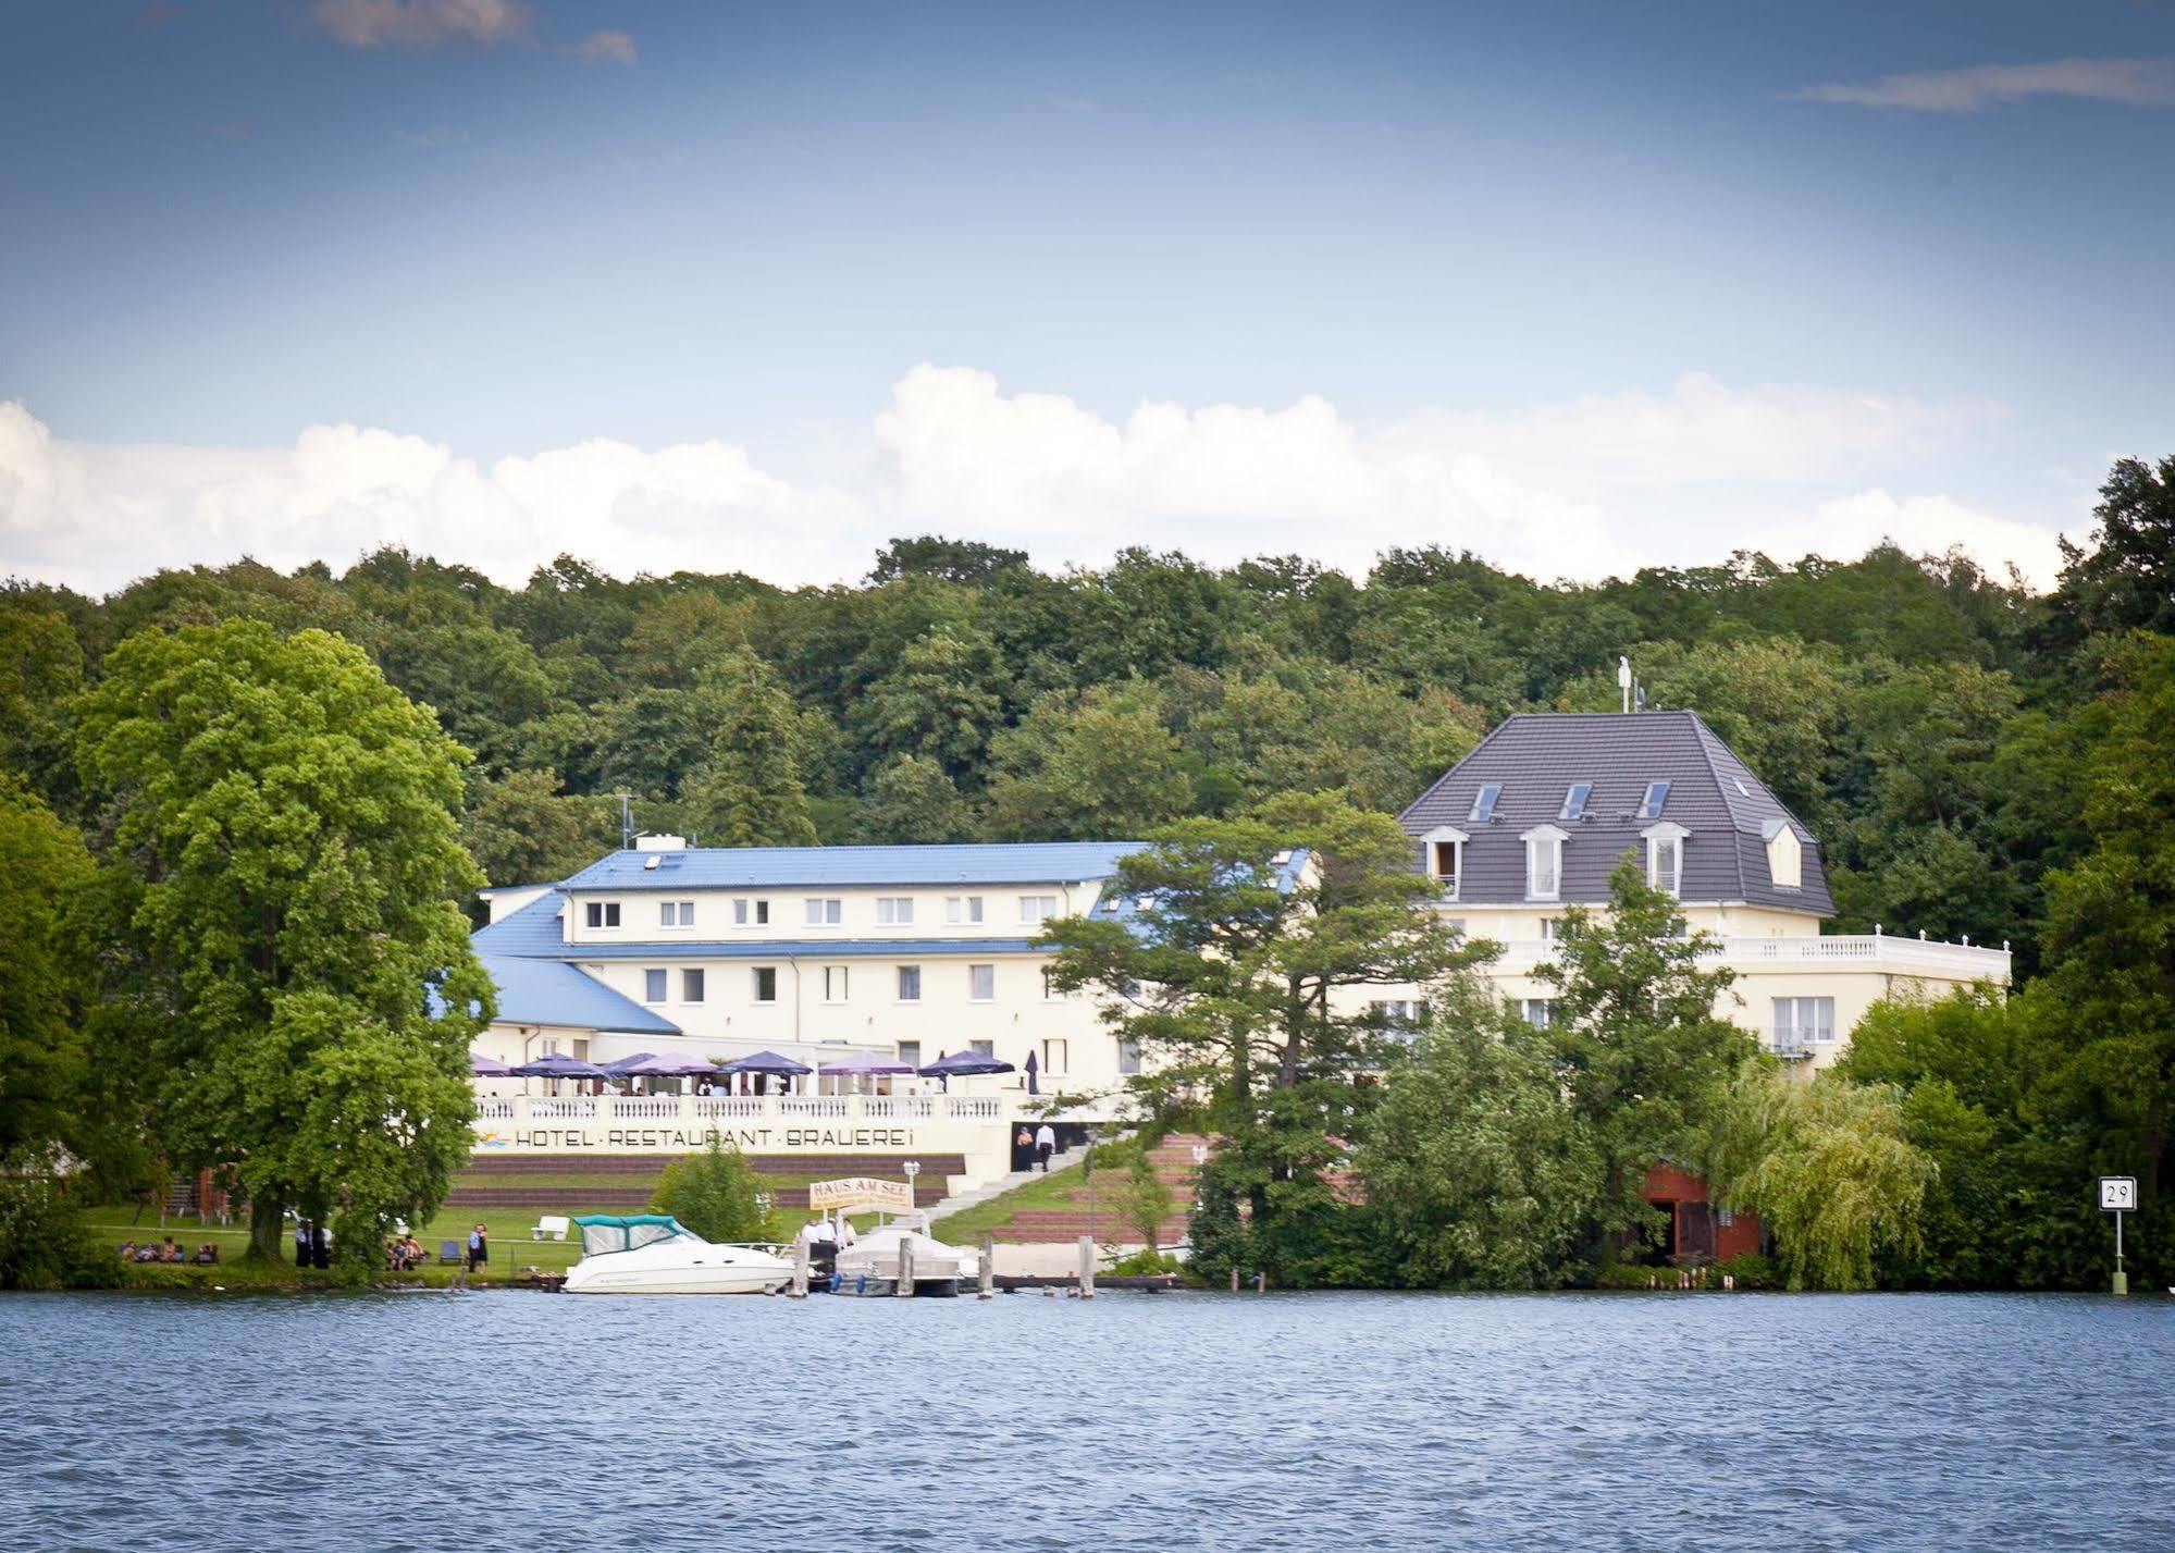
{"type": "Polygon", "coordinates": [[[1379,820],[1505,713],[1614,709],[1627,653],[1820,835],[1838,929],[2016,948],[2021,996],[1884,1011],[1847,1064],[1905,1096],[1929,1222],[2010,1207],[1881,1275],[2079,1281],[2097,1227],[2047,1183],[2123,1157],[2160,1203],[2175,1096],[2171,492],[2175,459],[2114,465],[2047,594],[1892,546],[1540,583],[1442,548],[1364,579],[1046,572],[944,537],[800,589],[572,557],[515,589],[400,550],[107,598],[15,579],[0,1153],[115,1181],[217,1153],[268,1203],[426,1203],[487,1011],[457,914],[613,846],[611,794],[720,846],[1148,840],[1307,794],[1379,820]],[[398,1146],[365,1170],[372,1129],[398,1146]]]}

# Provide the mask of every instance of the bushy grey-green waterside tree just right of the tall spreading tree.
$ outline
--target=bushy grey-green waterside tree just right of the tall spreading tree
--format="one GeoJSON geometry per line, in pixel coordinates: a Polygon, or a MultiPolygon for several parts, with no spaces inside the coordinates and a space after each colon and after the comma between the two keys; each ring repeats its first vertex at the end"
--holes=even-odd
{"type": "Polygon", "coordinates": [[[1435,987],[1353,1155],[1383,1275],[1418,1288],[1551,1288],[1581,1259],[1601,1155],[1540,1033],[1481,987],[1435,987]]]}

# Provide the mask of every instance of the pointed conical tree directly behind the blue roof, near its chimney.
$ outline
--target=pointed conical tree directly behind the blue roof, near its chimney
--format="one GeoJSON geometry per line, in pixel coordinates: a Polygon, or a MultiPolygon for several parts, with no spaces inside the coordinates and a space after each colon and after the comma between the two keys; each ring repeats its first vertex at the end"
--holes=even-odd
{"type": "Polygon", "coordinates": [[[705,689],[718,698],[709,763],[687,783],[705,846],[813,846],[803,787],[807,731],[792,696],[753,653],[722,659],[705,689]]]}

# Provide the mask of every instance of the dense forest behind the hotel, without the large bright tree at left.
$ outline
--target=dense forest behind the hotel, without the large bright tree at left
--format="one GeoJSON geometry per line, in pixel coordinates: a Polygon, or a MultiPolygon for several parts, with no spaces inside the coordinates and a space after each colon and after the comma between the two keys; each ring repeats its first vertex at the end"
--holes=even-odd
{"type": "MultiPolygon", "coordinates": [[[[929,535],[800,589],[618,579],[605,557],[505,587],[402,550],[159,572],[107,598],[13,579],[0,881],[30,929],[0,987],[0,1151],[39,1135],[41,1092],[115,1083],[59,1077],[98,1022],[61,883],[126,861],[122,768],[87,720],[130,644],[226,622],[355,644],[457,746],[448,798],[489,883],[616,846],[620,794],[639,829],[711,846],[1151,837],[1320,792],[1394,813],[1512,711],[1614,709],[1627,655],[1649,707],[1699,711],[1820,837],[1831,931],[2016,951],[2021,996],[1890,1009],[1851,1057],[1947,1161],[1927,1214],[1971,1220],[1881,1277],[2097,1277],[2095,1216],[2040,1194],[2112,1166],[2145,1181],[2134,1233],[2166,1270],[2175,459],[2116,463],[2066,559],[2051,592],[1892,546],[1594,583],[1416,546],[1355,579],[1151,550],[1051,572],[929,535]],[[2027,1255],[2018,1214],[2058,1233],[2027,1255]]],[[[89,983],[115,972],[109,953],[89,983]]]]}

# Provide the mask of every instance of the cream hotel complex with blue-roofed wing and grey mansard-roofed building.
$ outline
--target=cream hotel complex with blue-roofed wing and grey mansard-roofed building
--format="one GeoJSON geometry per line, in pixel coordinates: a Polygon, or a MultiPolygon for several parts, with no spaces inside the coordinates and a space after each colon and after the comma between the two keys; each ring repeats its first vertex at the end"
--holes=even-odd
{"type": "MultiPolygon", "coordinates": [[[[1877,998],[2008,985],[2005,948],[1890,931],[1823,935],[1834,914],[1818,840],[1692,713],[1531,716],[1501,724],[1403,816],[1438,909],[1503,944],[1488,970],[1529,1018],[1551,1016],[1536,968],[1570,905],[1605,905],[1631,853],[1714,933],[1736,972],[1720,1014],[1783,1057],[1825,1066],[1877,998]]],[[[1016,846],[687,848],[637,837],[572,879],[487,892],[474,946],[498,985],[476,1051],[507,1064],[566,1053],[698,1059],[774,1051],[811,1068],[857,1053],[929,1064],[961,1048],[1014,1074],[840,1081],[716,1096],[548,1096],[478,1081],[478,1148],[681,1153],[718,1129],[750,1153],[959,1153],[1000,1175],[1027,1114],[1027,1070],[1061,1116],[1116,1114],[1138,1053],[1088,994],[1048,983],[1033,946],[1059,916],[1109,914],[1133,842],[1016,846]]],[[[1303,859],[1285,861],[1285,868],[1303,859]]],[[[1416,1001],[1381,990],[1375,1001],[1416,1001]]],[[[742,1085],[733,1085],[735,1090],[742,1085]]]]}

